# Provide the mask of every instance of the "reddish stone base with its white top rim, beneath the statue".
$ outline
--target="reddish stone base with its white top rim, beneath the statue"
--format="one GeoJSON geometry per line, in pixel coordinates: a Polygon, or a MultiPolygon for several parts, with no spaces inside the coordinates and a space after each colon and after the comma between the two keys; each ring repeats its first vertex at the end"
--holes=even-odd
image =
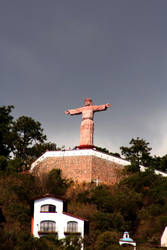
{"type": "Polygon", "coordinates": [[[32,164],[31,172],[40,176],[52,169],[61,169],[62,176],[74,182],[98,180],[112,185],[120,180],[126,165],[128,161],[93,149],[48,151],[32,164]]]}

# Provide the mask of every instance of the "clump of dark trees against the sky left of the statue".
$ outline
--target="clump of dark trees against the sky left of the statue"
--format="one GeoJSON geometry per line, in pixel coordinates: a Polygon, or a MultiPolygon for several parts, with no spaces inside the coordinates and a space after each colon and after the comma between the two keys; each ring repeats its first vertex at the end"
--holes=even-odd
{"type": "MultiPolygon", "coordinates": [[[[46,142],[47,137],[39,121],[28,116],[14,120],[11,115],[13,109],[14,106],[0,107],[0,156],[8,160],[14,156],[27,166],[45,151],[58,150],[56,143],[46,142]]],[[[4,163],[1,165],[5,168],[4,163]]]]}

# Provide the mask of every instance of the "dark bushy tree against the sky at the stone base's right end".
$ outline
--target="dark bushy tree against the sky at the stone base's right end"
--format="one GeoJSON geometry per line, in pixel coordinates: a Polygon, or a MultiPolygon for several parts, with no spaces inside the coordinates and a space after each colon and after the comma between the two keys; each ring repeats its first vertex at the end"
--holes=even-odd
{"type": "Polygon", "coordinates": [[[129,144],[130,147],[120,147],[121,154],[131,162],[132,166],[139,167],[141,164],[148,167],[151,160],[149,143],[137,137],[132,139],[129,144]]]}

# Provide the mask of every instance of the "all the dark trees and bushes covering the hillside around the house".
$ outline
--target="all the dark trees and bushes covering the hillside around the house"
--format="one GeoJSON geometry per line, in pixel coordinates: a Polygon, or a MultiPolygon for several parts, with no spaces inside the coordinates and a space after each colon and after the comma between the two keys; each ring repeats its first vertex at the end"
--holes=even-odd
{"type": "MultiPolygon", "coordinates": [[[[167,171],[167,155],[152,157],[149,143],[137,138],[129,147],[121,147],[131,165],[119,184],[77,185],[63,179],[60,170],[39,179],[25,170],[47,149],[57,150],[57,146],[46,142],[41,124],[34,119],[22,116],[15,121],[13,108],[0,107],[0,249],[80,249],[82,239],[77,237],[37,239],[30,234],[33,198],[46,193],[68,199],[68,211],[89,220],[89,234],[84,239],[87,250],[122,249],[118,241],[125,230],[139,250],[160,249],[167,225],[167,178],[155,175],[154,169],[167,171]],[[146,172],[139,171],[140,164],[147,167],[146,172]]],[[[99,150],[109,153],[105,148],[99,150]]]]}

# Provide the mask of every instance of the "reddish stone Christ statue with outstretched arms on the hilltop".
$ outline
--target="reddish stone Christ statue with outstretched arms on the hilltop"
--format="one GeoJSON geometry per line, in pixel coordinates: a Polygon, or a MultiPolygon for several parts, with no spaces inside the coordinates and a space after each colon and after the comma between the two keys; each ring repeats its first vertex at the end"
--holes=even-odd
{"type": "Polygon", "coordinates": [[[93,147],[93,133],[94,133],[94,112],[104,111],[111,107],[110,104],[93,105],[90,98],[86,98],[84,106],[76,109],[69,109],[65,114],[79,115],[82,114],[81,128],[80,128],[80,146],[79,148],[93,147]]]}

